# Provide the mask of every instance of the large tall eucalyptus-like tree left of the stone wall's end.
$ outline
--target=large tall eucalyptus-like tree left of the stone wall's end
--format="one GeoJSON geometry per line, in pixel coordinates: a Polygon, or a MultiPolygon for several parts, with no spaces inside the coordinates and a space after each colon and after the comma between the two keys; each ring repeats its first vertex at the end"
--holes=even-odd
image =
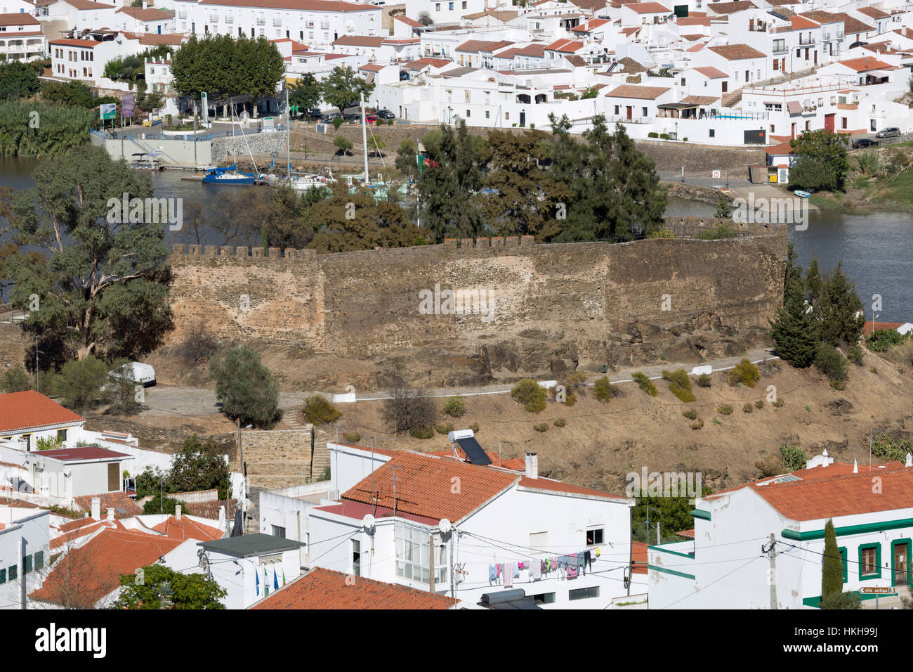
{"type": "Polygon", "coordinates": [[[173,327],[164,227],[111,207],[123,194],[152,197],[148,177],[90,145],[41,162],[32,177],[35,187],[16,192],[11,228],[50,260],[39,267],[16,255],[5,263],[16,281],[14,307],[30,310],[26,332],[58,337],[80,359],[151,352],[173,327]]]}

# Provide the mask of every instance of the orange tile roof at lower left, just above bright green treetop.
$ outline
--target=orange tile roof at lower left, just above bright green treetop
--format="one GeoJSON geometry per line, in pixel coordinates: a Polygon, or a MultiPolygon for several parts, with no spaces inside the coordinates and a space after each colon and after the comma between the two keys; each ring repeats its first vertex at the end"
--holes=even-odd
{"type": "Polygon", "coordinates": [[[79,549],[69,550],[32,592],[33,600],[90,608],[120,585],[121,574],[152,564],[184,541],[142,532],[105,529],[79,549]]]}

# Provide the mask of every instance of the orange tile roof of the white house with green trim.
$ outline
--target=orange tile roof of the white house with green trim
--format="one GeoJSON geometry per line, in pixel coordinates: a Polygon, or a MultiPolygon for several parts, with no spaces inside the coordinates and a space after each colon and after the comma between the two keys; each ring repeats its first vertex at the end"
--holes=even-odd
{"type": "Polygon", "coordinates": [[[754,492],[792,520],[857,516],[909,508],[913,502],[913,468],[860,467],[858,474],[753,487],[754,492]],[[881,479],[873,493],[872,478],[881,479]]]}

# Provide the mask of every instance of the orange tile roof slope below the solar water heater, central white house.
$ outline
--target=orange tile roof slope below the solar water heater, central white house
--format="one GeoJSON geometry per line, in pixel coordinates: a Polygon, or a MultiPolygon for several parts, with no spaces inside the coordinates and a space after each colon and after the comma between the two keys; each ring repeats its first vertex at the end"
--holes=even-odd
{"type": "Polygon", "coordinates": [[[353,485],[342,497],[394,507],[394,467],[396,510],[438,520],[448,518],[452,522],[467,517],[519,478],[516,474],[456,460],[400,453],[375,469],[373,475],[353,485]]]}

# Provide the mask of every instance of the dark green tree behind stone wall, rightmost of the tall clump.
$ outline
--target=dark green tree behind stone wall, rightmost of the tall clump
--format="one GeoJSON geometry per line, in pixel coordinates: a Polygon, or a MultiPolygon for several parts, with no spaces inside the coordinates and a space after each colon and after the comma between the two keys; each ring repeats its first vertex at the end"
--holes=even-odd
{"type": "Polygon", "coordinates": [[[571,135],[571,122],[551,115],[551,175],[570,187],[566,220],[558,241],[632,240],[662,225],[666,190],[656,166],[624,132],[610,133],[604,117],[593,120],[583,142],[571,135]]]}

